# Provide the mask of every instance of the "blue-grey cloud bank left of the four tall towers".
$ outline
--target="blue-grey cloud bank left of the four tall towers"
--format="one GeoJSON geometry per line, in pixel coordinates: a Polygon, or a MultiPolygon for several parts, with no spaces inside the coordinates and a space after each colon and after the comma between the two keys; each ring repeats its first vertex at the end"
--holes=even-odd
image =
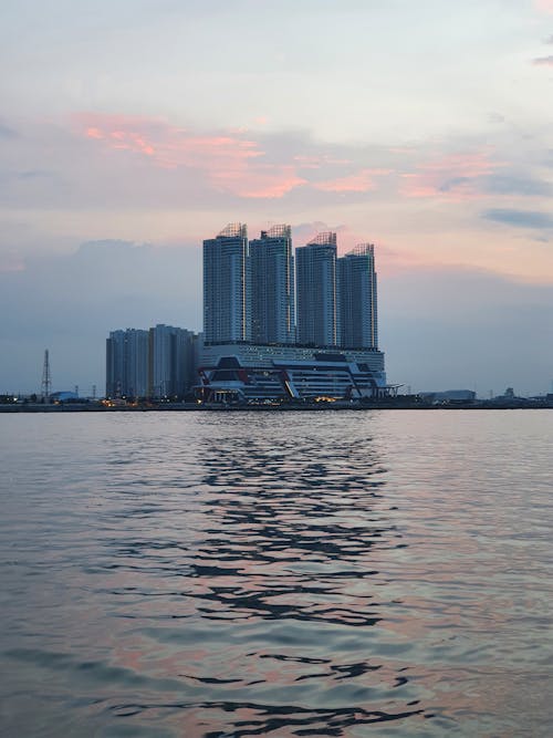
{"type": "Polygon", "coordinates": [[[0,393],[34,392],[50,349],[55,389],[103,392],[105,339],[118,328],[201,326],[201,249],[122,240],[33,256],[0,270],[0,393]],[[8,271],[8,270],[7,270],[8,271]]]}

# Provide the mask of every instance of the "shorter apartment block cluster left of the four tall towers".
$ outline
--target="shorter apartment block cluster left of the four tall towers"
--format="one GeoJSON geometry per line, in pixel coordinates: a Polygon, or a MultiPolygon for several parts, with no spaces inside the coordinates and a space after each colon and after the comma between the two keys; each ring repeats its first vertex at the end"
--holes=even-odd
{"type": "Polygon", "coordinates": [[[191,331],[173,325],[112,331],[106,341],[106,396],[182,397],[196,383],[198,342],[191,331]]]}

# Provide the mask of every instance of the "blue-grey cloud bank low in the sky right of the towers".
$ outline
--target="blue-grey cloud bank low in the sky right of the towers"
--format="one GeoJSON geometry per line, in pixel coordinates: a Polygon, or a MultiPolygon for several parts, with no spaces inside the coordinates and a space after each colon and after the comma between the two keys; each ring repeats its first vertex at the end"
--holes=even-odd
{"type": "Polygon", "coordinates": [[[486,396],[507,386],[522,394],[547,389],[553,344],[543,336],[553,325],[552,284],[413,266],[380,285],[379,336],[390,382],[417,391],[476,385],[486,396]]]}

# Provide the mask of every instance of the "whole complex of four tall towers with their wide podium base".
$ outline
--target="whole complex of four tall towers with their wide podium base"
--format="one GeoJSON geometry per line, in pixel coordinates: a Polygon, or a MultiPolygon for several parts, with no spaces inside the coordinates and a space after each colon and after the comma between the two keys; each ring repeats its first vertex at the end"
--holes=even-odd
{"type": "Polygon", "coordinates": [[[361,399],[394,394],[378,351],[374,246],[342,258],[336,233],[292,256],[290,226],[247,245],[234,224],[204,241],[207,402],[361,399]],[[295,266],[295,329],[294,329],[295,266]]]}

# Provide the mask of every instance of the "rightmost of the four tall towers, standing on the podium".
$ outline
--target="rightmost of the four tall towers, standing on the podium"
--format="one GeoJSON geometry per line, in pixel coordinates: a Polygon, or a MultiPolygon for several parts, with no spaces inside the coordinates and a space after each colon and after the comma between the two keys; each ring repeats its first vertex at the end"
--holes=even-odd
{"type": "Polygon", "coordinates": [[[375,247],[358,246],[337,260],[341,341],[344,349],[377,349],[375,247]]]}

